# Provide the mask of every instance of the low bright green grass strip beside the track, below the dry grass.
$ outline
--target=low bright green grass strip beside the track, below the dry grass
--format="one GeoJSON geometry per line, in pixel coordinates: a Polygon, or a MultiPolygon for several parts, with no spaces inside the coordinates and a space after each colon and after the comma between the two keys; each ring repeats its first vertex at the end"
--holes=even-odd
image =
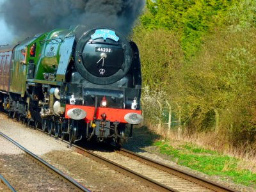
{"type": "Polygon", "coordinates": [[[154,142],[161,154],[166,154],[172,161],[182,166],[207,175],[216,175],[223,180],[232,180],[236,184],[243,184],[256,188],[256,174],[250,170],[241,169],[241,159],[220,154],[214,150],[207,150],[194,144],[172,145],[172,140],[154,142]]]}

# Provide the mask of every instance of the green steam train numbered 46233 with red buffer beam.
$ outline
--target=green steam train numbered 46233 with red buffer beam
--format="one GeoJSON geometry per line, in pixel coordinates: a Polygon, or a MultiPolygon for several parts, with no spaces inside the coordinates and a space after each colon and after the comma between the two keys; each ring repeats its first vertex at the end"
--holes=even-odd
{"type": "Polygon", "coordinates": [[[138,47],[118,31],[54,29],[0,46],[0,106],[74,143],[127,140],[143,120],[138,47]],[[129,125],[129,126],[127,126],[129,125]]]}

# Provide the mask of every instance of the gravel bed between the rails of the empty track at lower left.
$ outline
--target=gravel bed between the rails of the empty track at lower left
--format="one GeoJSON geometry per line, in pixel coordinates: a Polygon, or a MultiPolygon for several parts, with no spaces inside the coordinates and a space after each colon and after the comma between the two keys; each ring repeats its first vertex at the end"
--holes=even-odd
{"type": "Polygon", "coordinates": [[[16,191],[72,191],[71,186],[2,136],[0,145],[0,173],[16,191]]]}

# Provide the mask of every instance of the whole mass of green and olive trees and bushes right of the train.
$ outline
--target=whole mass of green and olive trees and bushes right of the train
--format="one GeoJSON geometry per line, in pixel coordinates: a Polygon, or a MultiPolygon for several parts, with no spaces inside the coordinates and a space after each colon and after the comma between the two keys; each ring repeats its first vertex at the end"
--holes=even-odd
{"type": "Polygon", "coordinates": [[[148,0],[134,30],[145,118],[166,119],[168,101],[188,132],[255,141],[255,19],[253,0],[148,0]]]}

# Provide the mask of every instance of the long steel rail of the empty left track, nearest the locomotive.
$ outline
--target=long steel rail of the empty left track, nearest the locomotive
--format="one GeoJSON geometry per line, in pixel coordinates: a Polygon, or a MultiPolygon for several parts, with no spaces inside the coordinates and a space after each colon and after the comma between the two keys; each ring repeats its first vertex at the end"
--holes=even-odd
{"type": "Polygon", "coordinates": [[[60,170],[58,170],[57,168],[55,168],[54,166],[52,166],[51,164],[47,163],[46,161],[44,161],[44,159],[41,159],[40,157],[36,156],[35,154],[33,154],[32,152],[30,152],[29,150],[27,150],[26,148],[22,147],[19,143],[17,143],[16,141],[12,140],[11,138],[9,138],[8,136],[6,136],[5,134],[3,134],[3,132],[0,132],[0,135],[5,138],[6,140],[12,142],[15,146],[19,147],[22,151],[24,151],[29,157],[31,157],[32,159],[34,159],[36,162],[42,164],[42,166],[44,166],[45,168],[47,168],[48,170],[50,170],[51,172],[56,173],[58,176],[60,176],[63,180],[65,180],[65,182],[67,182],[68,184],[70,184],[71,186],[74,186],[74,190],[75,191],[90,191],[89,189],[85,188],[82,184],[80,184],[79,182],[77,182],[76,180],[72,179],[71,177],[69,177],[68,175],[66,175],[65,173],[61,172],[60,170]]]}

